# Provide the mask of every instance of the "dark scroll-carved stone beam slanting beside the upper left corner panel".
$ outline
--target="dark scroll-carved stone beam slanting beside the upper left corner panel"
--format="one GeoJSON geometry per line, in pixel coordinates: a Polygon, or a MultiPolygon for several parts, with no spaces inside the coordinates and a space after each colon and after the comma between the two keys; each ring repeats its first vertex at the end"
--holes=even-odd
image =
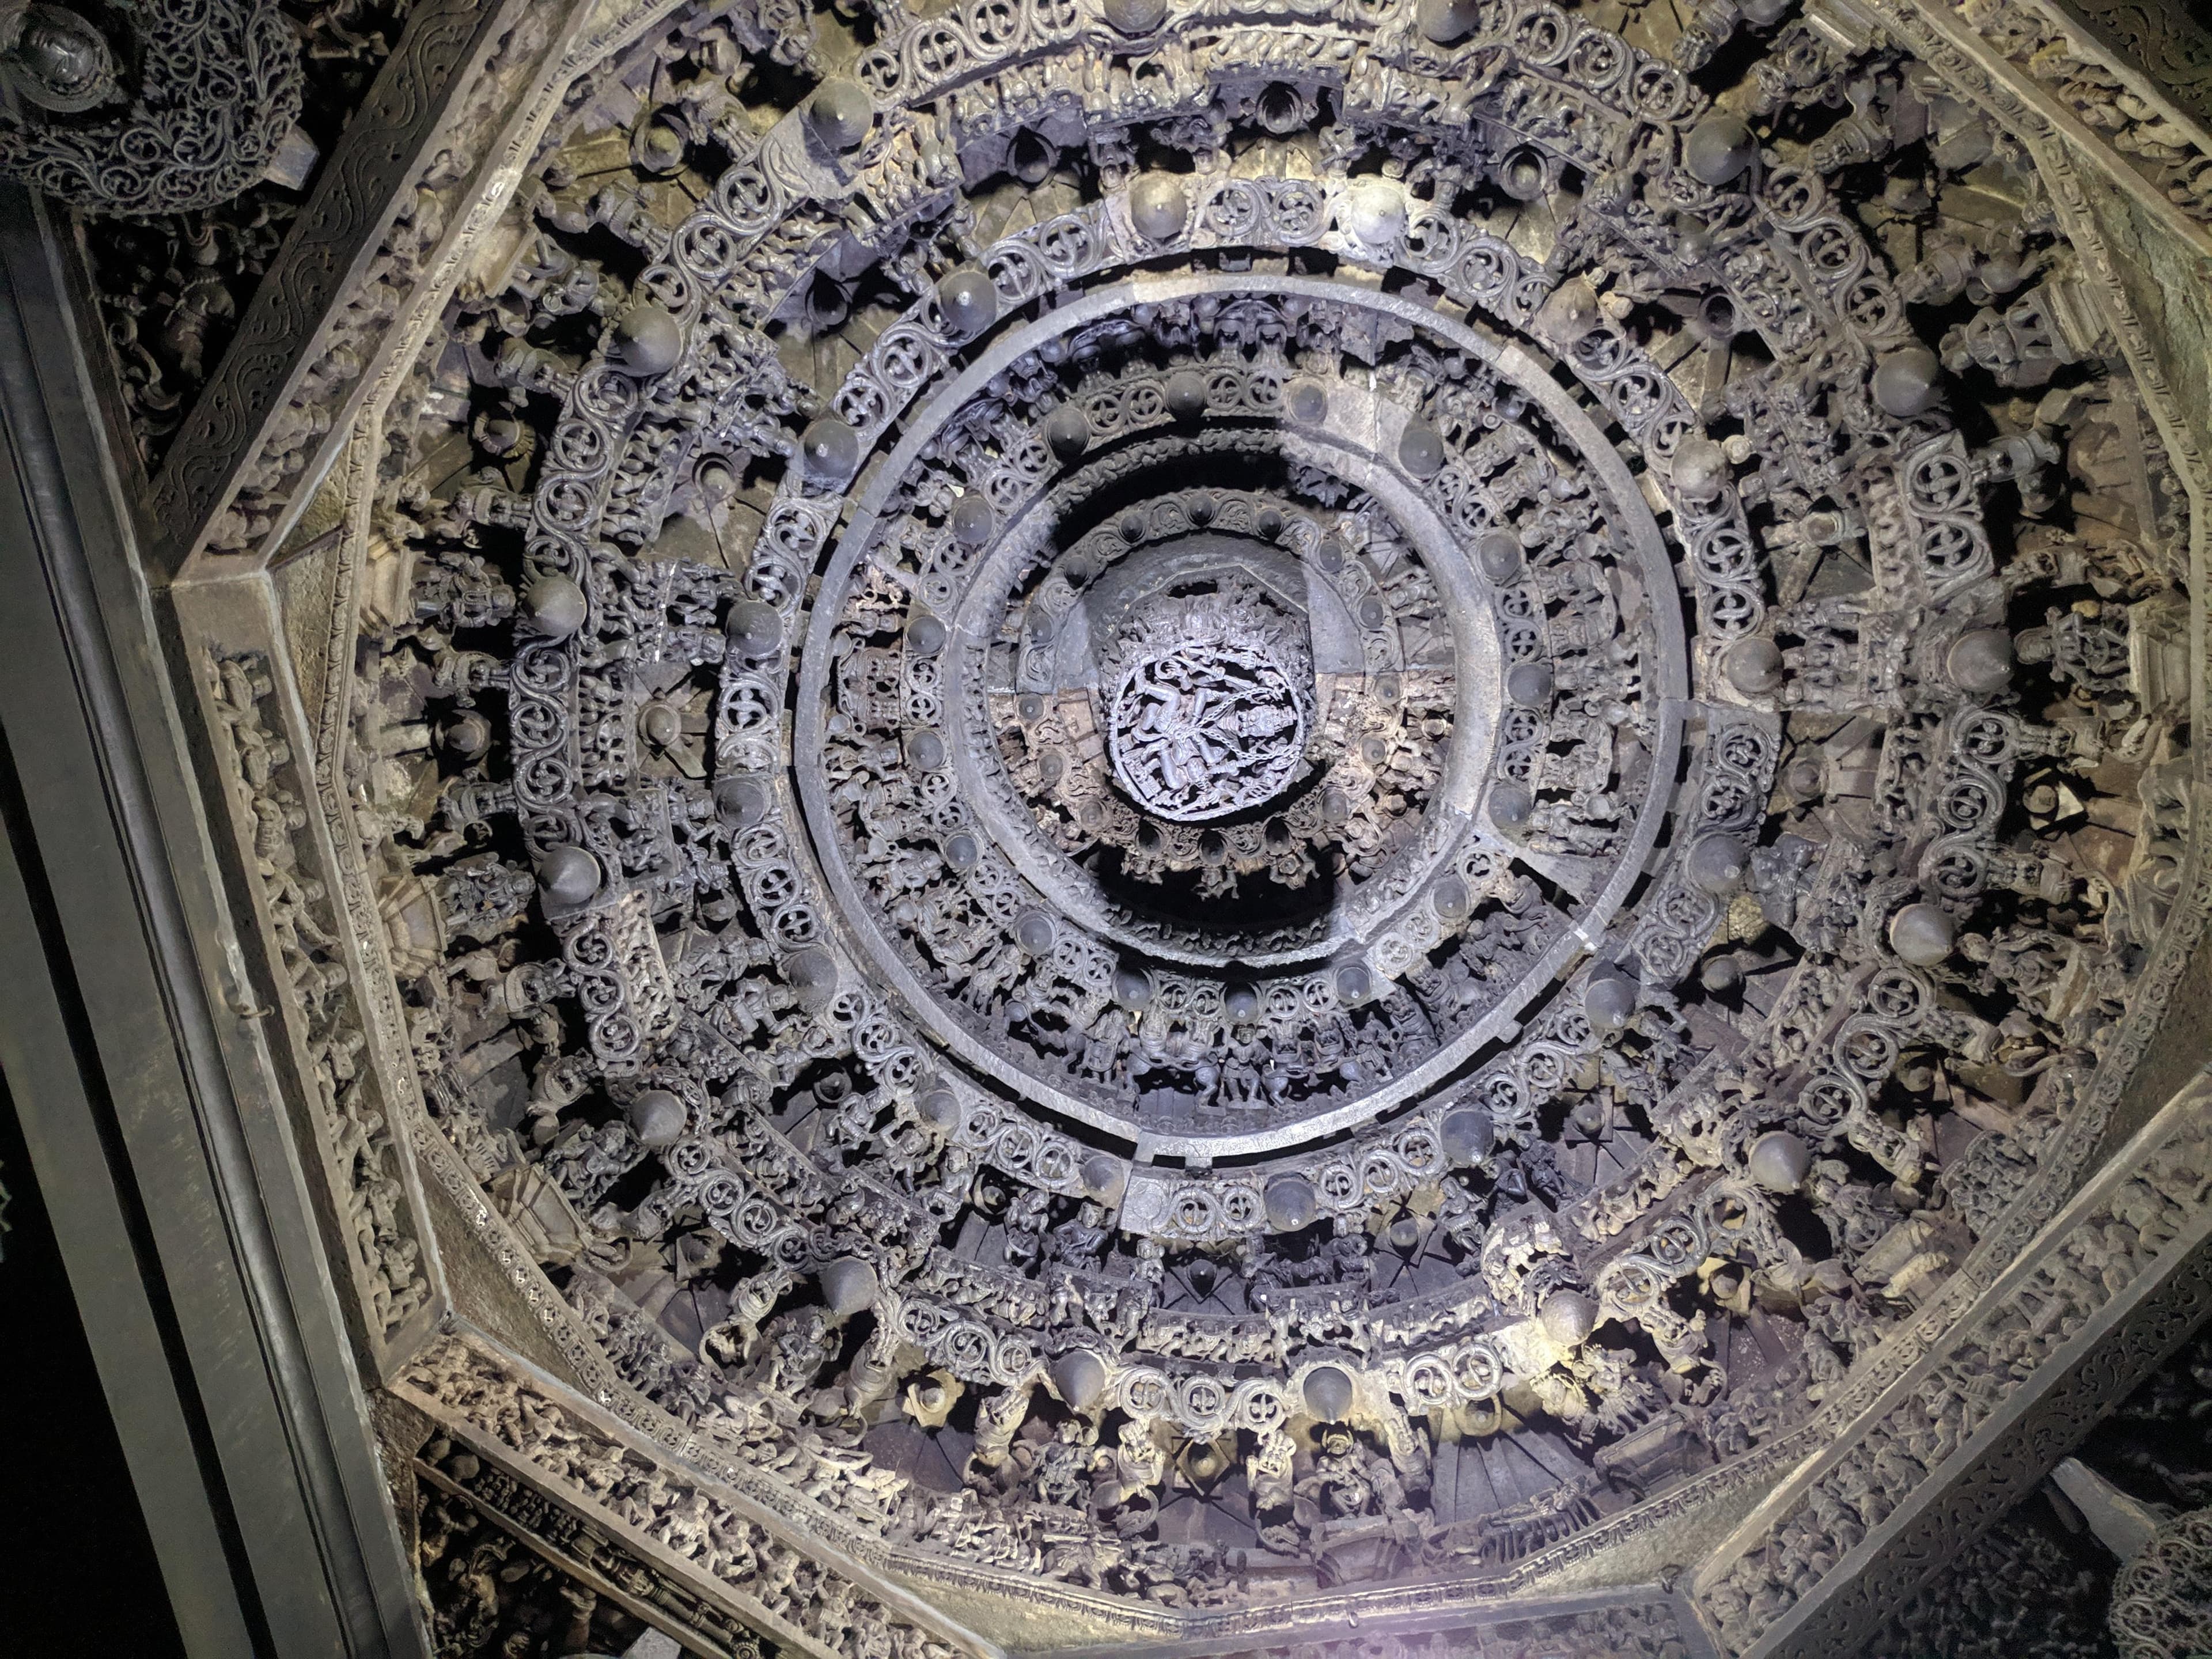
{"type": "MultiPolygon", "coordinates": [[[[150,544],[164,571],[206,546],[210,526],[239,495],[265,451],[307,449],[290,507],[316,460],[343,436],[279,445],[294,394],[323,358],[325,338],[374,265],[392,221],[416,197],[418,159],[447,142],[462,93],[484,73],[491,42],[526,0],[425,0],[407,15],[367,102],[323,164],[305,210],[270,263],[168,460],[153,478],[150,544]]],[[[365,378],[365,376],[363,376],[365,378]]],[[[358,385],[358,378],[356,378],[358,385]]],[[[290,515],[285,515],[290,518],[290,515]]]]}

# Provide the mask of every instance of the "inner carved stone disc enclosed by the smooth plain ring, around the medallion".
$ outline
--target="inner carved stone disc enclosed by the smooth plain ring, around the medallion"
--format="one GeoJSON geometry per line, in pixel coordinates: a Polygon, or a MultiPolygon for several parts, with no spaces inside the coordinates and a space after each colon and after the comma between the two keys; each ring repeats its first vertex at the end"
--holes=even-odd
{"type": "MultiPolygon", "coordinates": [[[[1517,573],[1498,568],[1491,557],[1506,577],[1502,586],[1482,557],[1482,538],[1498,535],[1528,542],[1537,560],[1564,546],[1555,540],[1559,529],[1517,520],[1504,504],[1511,498],[1493,500],[1495,484],[1486,482],[1511,478],[1513,467],[1548,467],[1531,436],[1535,429],[1584,458],[1588,471],[1568,487],[1571,500],[1588,502],[1595,515],[1588,522],[1604,526],[1599,546],[1608,549],[1608,562],[1624,560],[1626,591],[1659,593],[1661,584],[1672,584],[1650,509],[1579,405],[1526,349],[1498,345],[1433,312],[1327,281],[1175,279],[1097,290],[1046,321],[989,341],[931,398],[927,418],[905,431],[863,493],[825,575],[799,666],[794,752],[827,754],[832,776],[801,772],[796,790],[807,803],[830,885],[841,896],[838,920],[854,933],[856,949],[914,1009],[929,1011],[940,1042],[980,1073],[1031,1095],[1042,1091],[1055,1113],[1075,1121],[1119,1128],[1157,1146],[1261,1150],[1294,1144],[1389,1110],[1449,1077],[1557,973],[1577,938],[1606,925],[1668,807],[1666,796],[1646,796],[1624,812],[1628,803],[1606,796],[1604,810],[1615,816],[1584,827],[1573,823],[1577,807],[1562,803],[1546,807],[1551,816],[1533,841],[1526,825],[1515,823],[1520,841],[1509,841],[1495,814],[1484,818],[1486,794],[1495,787],[1484,779],[1513,779],[1498,770],[1513,752],[1500,750],[1498,737],[1509,723],[1515,732],[1531,719],[1542,728],[1559,677],[1557,668],[1537,661],[1540,635],[1515,619],[1531,615],[1517,608],[1522,591],[1511,582],[1517,573]],[[1079,403],[1057,405],[1046,392],[1033,416],[1040,436],[1013,445],[1006,460],[987,462],[998,473],[973,478],[960,462],[947,462],[942,434],[973,429],[984,418],[1004,420],[1006,398],[998,387],[1009,374],[1035,378],[1024,365],[1046,363],[1066,352],[1068,341],[1097,341],[1091,347],[1097,385],[1097,367],[1113,363],[1106,341],[1115,332],[1133,336],[1130,314],[1141,307],[1155,325],[1164,316],[1197,316],[1199,307],[1217,303],[1214,294],[1237,296],[1239,332],[1221,334],[1221,314],[1208,310],[1217,332],[1210,378],[1190,376],[1183,385],[1175,376],[1139,374],[1110,394],[1091,392],[1079,403]],[[1471,363],[1482,389],[1462,398],[1464,414],[1447,422],[1449,442],[1444,429],[1431,425],[1436,416],[1420,407],[1418,392],[1400,394],[1413,400],[1409,407],[1394,396],[1345,387],[1321,407],[1292,409],[1276,389],[1287,376],[1261,380],[1270,330],[1281,327],[1265,319],[1287,316],[1283,307],[1329,319],[1380,314],[1389,327],[1433,336],[1438,349],[1471,363]],[[1248,383],[1270,389],[1252,403],[1248,383]],[[1177,398],[1186,403],[1183,414],[1175,409],[1177,398]],[[1296,429],[1276,436],[1285,414],[1296,429]],[[1192,416],[1201,427],[1181,431],[1179,422],[1192,416]],[[1310,524],[1285,546],[1285,555],[1296,555],[1287,566],[1285,555],[1265,546],[1223,551],[1219,535],[1201,535],[1219,526],[1197,524],[1186,540],[1139,557],[1146,531],[1130,520],[1130,507],[1115,502],[1126,502],[1130,489],[1146,489],[1157,467],[1177,453],[1208,445],[1208,453],[1234,453],[1241,422],[1265,431],[1270,449],[1287,453],[1294,469],[1310,469],[1292,471],[1292,482],[1336,478],[1343,480],[1336,489],[1354,489],[1367,507],[1349,518],[1323,513],[1321,522],[1285,498],[1310,524]],[[1431,442],[1429,434],[1436,434],[1433,467],[1416,456],[1431,442]],[[1055,449],[1068,458],[1062,467],[1075,462],[1064,482],[1051,458],[1055,449]],[[942,509],[931,507],[947,495],[964,500],[960,491],[975,487],[991,500],[980,549],[973,535],[962,535],[956,513],[938,524],[942,509]],[[1449,515],[1438,511],[1438,495],[1449,515]],[[1334,529],[1338,518],[1343,526],[1334,529]],[[1093,546],[1088,524],[1113,529],[1097,553],[1053,553],[1055,546],[1093,546]],[[896,653],[874,644],[887,635],[876,622],[880,613],[863,599],[880,580],[872,571],[880,568],[894,538],[936,549],[918,584],[929,595],[929,613],[909,611],[896,653]],[[1356,544],[1371,546],[1360,553],[1356,544]],[[1418,593],[1433,595],[1427,602],[1407,586],[1416,571],[1425,584],[1418,593]],[[1455,688],[1451,717],[1438,721],[1431,739],[1438,759],[1429,763],[1427,810],[1398,827],[1387,847],[1378,845],[1365,865],[1347,865],[1352,902],[1338,896],[1310,922],[1298,920],[1294,900],[1276,909],[1279,920],[1267,929],[1254,929],[1248,911],[1232,905],[1214,907],[1219,920],[1206,905],[1175,914],[1166,894],[1179,889],[1155,898],[1130,876],[1146,874],[1148,854],[1172,852],[1179,825],[1261,812],[1305,772],[1316,774],[1314,814],[1325,821],[1332,807],[1340,814],[1338,803],[1352,803],[1354,781],[1389,772],[1394,743],[1402,739],[1387,732],[1396,730],[1407,679],[1418,670],[1407,664],[1405,624],[1374,586],[1376,573],[1389,575],[1396,593],[1427,604],[1433,622],[1422,637],[1436,644],[1422,650],[1442,653],[1436,664],[1455,688]],[[1128,606],[1135,611],[1121,615],[1128,606]],[[949,617],[949,628],[940,626],[940,615],[949,617]],[[1150,637],[1150,628],[1157,637],[1150,648],[1130,648],[1115,637],[1117,628],[1128,637],[1150,637]],[[1141,679],[1157,675],[1144,664],[1181,650],[1188,639],[1179,628],[1197,630],[1212,653],[1223,630],[1274,641],[1265,650],[1248,648],[1239,692],[1221,699],[1237,719],[1252,719],[1263,706],[1274,710],[1265,730],[1234,732],[1239,743],[1279,745],[1254,774],[1259,783],[1199,776],[1197,763],[1172,785],[1166,770],[1144,785],[1133,776],[1133,743],[1166,739],[1183,741],[1190,757],[1206,752],[1188,730],[1192,717],[1175,712],[1179,703],[1133,697],[1137,686],[1161,684],[1141,679]],[[1004,661],[1004,648],[993,655],[991,639],[1018,641],[1011,675],[993,666],[1004,661]],[[1292,653],[1312,668],[1285,670],[1283,659],[1292,653]],[[883,675],[898,675],[902,695],[885,695],[889,679],[885,692],[860,690],[854,666],[872,661],[883,664],[883,675]],[[1305,675],[1314,675],[1310,717],[1298,684],[1305,675]],[[1256,690],[1263,697],[1254,697],[1256,690]],[[1011,706],[1011,719],[993,714],[993,699],[1011,706]],[[1345,723],[1336,712],[1343,706],[1365,712],[1345,723]],[[1515,721],[1506,719],[1509,710],[1515,721]],[[1175,719],[1186,721],[1181,732],[1175,719]],[[1316,732],[1334,732],[1338,752],[1310,757],[1307,739],[1316,732]],[[1097,761],[1093,783],[1110,779],[1110,790],[1086,792],[1086,757],[1097,761]],[[896,779],[880,772],[878,761],[887,761],[896,779]],[[869,787],[916,801],[925,834],[891,854],[880,818],[869,827],[856,785],[836,785],[836,774],[880,776],[883,785],[869,787]],[[1155,810],[1170,790],[1181,792],[1172,810],[1155,810]],[[1048,816],[1040,821],[1040,801],[1071,807],[1057,838],[1060,825],[1048,816]],[[1093,830],[1102,823],[1110,830],[1117,816],[1135,814],[1126,849],[1108,860],[1108,876],[1095,860],[1068,860],[1068,847],[1095,845],[1095,836],[1082,834],[1082,814],[1091,814],[1093,830]],[[1394,1000],[1398,973],[1427,951],[1451,951],[1467,914],[1504,891],[1495,883],[1522,845],[1573,847],[1582,860],[1582,891],[1568,909],[1533,914],[1520,925],[1520,949],[1504,962],[1502,991],[1469,1004],[1451,1029],[1394,1000]],[[1601,865],[1615,865],[1619,876],[1593,880],[1601,865]],[[902,898],[922,872],[940,872],[931,885],[933,911],[902,898]],[[1440,872],[1451,891],[1469,894],[1464,902],[1438,902],[1431,883],[1440,872]],[[964,891],[958,909],[947,909],[951,891],[964,891]],[[1383,1046],[1374,1046],[1378,1037],[1383,1046]],[[1228,1068],[1208,1057],[1223,1040],[1243,1055],[1228,1068]]],[[[1199,511],[1214,509],[1208,502],[1199,511]]],[[[1285,535],[1290,515],[1281,509],[1259,509],[1252,522],[1270,513],[1283,520],[1274,533],[1285,535]]],[[[1555,584],[1588,580],[1577,571],[1595,566],[1566,566],[1555,584]]],[[[1637,787],[1637,779],[1668,776],[1674,768],[1679,721],[1666,701],[1655,708],[1650,697],[1655,690],[1679,697],[1686,688],[1681,628],[1668,606],[1641,604],[1624,617],[1610,588],[1599,611],[1624,630],[1608,646],[1608,661],[1639,664],[1628,692],[1630,703],[1644,708],[1635,717],[1628,763],[1630,787],[1637,787]]],[[[1194,659],[1175,661],[1188,668],[1194,659]]],[[[1201,703],[1194,699],[1192,708],[1201,703]]],[[[1579,732],[1562,739],[1588,741],[1579,732]]],[[[1148,750],[1155,759],[1164,752],[1148,750]]],[[[1225,752],[1221,745],[1217,757],[1225,752]]],[[[1239,843],[1237,827],[1201,836],[1192,860],[1199,898],[1228,889],[1208,867],[1228,865],[1239,845],[1252,847],[1248,858],[1254,863],[1267,860],[1270,836],[1276,847],[1292,845],[1294,816],[1263,814],[1250,836],[1239,843]]],[[[1287,856],[1281,863],[1292,865],[1287,856]]]]}

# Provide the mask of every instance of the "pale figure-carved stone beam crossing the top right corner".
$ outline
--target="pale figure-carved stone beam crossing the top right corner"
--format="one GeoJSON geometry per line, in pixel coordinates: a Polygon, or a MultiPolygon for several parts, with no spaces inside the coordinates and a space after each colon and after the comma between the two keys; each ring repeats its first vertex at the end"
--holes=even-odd
{"type": "MultiPolygon", "coordinates": [[[[1973,84],[1980,80],[1989,86],[2000,108],[2006,102],[2026,106],[2039,122],[2064,137],[2068,148],[2088,157],[2112,184],[2135,197],[2152,219],[2174,230],[2197,250],[2212,252],[2212,201],[2197,208],[2188,206],[2181,197],[2194,195],[2194,190],[2179,184],[2185,175],[2212,166],[2212,137],[2208,137],[2205,128],[2163,100],[2141,71],[2101,51],[2097,40],[2075,29],[2057,9],[2042,7],[2035,0],[2013,0],[2004,9],[2004,15],[2008,22],[2026,20],[2044,24],[2048,35],[2070,42],[2077,49],[2077,62],[2090,62],[2095,69],[2119,80],[2124,91],[2141,97],[2150,108],[2148,119],[2132,117],[2115,104],[2110,119],[2119,119],[2119,128],[2108,133],[2101,126],[2093,126],[2084,119],[2077,95],[2079,86],[2075,86],[2077,77],[2068,73],[2064,51],[2057,58],[2044,51],[2011,55],[2008,49],[2017,38],[1982,33],[1951,0],[1865,0],[1865,18],[1876,20],[1885,33],[1940,69],[1953,86],[1973,95],[1973,84]],[[2141,139],[2141,144],[2150,146],[2179,148],[2183,161],[2168,168],[2166,175],[2152,177],[2148,166],[2130,159],[2128,150],[2139,150],[2141,144],[2124,146],[2119,139],[2141,139]]],[[[1856,7],[1829,0],[1829,4],[1816,9],[1816,18],[1836,38],[1849,44],[1863,42],[1863,22],[1856,7]]]]}

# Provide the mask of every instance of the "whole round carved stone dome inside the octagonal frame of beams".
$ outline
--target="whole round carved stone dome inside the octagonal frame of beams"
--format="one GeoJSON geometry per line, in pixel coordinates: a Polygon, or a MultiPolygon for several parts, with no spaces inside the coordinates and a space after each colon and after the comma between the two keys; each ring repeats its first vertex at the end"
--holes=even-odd
{"type": "Polygon", "coordinates": [[[387,456],[438,1128],[918,1573],[1464,1577],[1774,1440],[2179,894],[2179,487],[2011,137],[1843,13],[1290,11],[681,13],[387,456]]]}

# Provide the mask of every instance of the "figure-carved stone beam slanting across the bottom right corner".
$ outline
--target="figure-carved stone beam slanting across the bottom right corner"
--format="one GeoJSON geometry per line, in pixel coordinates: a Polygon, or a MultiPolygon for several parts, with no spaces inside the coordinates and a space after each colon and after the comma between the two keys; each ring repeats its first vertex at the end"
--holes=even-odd
{"type": "Polygon", "coordinates": [[[2208,1314],[2212,1071],[2199,1071],[1940,1349],[1714,1553],[1694,1595],[1723,1652],[1865,1652],[1893,1608],[2028,1495],[2208,1314]],[[1893,1509],[1838,1551],[1840,1515],[1874,1520],[1869,1489],[1893,1509]],[[1807,1557],[1840,1553],[1818,1577],[1794,1553],[1792,1540],[1807,1537],[1818,1544],[1807,1557]]]}

